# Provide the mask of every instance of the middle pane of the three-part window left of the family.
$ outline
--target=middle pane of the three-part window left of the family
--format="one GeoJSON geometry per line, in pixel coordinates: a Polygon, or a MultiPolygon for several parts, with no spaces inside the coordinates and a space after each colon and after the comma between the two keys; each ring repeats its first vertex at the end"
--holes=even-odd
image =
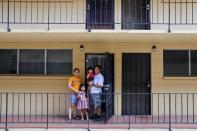
{"type": "Polygon", "coordinates": [[[44,74],[44,50],[20,50],[20,74],[44,74]]]}

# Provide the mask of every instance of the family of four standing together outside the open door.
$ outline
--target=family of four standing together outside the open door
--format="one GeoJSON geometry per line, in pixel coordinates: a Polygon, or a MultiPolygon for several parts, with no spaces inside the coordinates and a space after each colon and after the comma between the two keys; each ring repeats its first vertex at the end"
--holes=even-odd
{"type": "Polygon", "coordinates": [[[97,65],[94,68],[89,67],[86,77],[86,84],[81,83],[80,70],[75,68],[73,76],[69,78],[68,88],[71,90],[69,95],[70,108],[69,108],[69,121],[72,119],[78,120],[77,112],[80,111],[81,120],[89,120],[90,105],[94,106],[94,118],[101,119],[101,92],[104,83],[104,77],[101,74],[101,66],[97,65]],[[90,97],[88,94],[90,93],[90,97]]]}

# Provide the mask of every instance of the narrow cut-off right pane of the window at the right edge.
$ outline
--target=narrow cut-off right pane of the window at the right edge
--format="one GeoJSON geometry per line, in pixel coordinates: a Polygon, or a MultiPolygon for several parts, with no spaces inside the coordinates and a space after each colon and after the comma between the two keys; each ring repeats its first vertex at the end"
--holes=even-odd
{"type": "Polygon", "coordinates": [[[191,51],[191,76],[197,76],[197,50],[191,51]]]}

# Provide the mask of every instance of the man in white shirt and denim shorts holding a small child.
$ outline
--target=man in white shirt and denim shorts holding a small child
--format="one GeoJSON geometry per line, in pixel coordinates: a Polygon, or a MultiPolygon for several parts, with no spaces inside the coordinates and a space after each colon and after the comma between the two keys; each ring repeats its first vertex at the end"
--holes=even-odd
{"type": "Polygon", "coordinates": [[[90,94],[94,104],[94,110],[96,113],[96,120],[99,121],[101,118],[101,93],[102,87],[104,83],[104,77],[101,74],[101,66],[97,65],[94,67],[94,81],[90,82],[89,85],[91,86],[90,94]]]}

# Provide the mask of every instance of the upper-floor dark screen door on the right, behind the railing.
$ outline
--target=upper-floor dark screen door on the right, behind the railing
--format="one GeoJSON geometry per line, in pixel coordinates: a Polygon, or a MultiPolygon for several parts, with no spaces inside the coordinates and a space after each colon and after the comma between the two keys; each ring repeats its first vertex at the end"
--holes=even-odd
{"type": "Polygon", "coordinates": [[[150,0],[122,0],[122,28],[150,29],[150,0]]]}

